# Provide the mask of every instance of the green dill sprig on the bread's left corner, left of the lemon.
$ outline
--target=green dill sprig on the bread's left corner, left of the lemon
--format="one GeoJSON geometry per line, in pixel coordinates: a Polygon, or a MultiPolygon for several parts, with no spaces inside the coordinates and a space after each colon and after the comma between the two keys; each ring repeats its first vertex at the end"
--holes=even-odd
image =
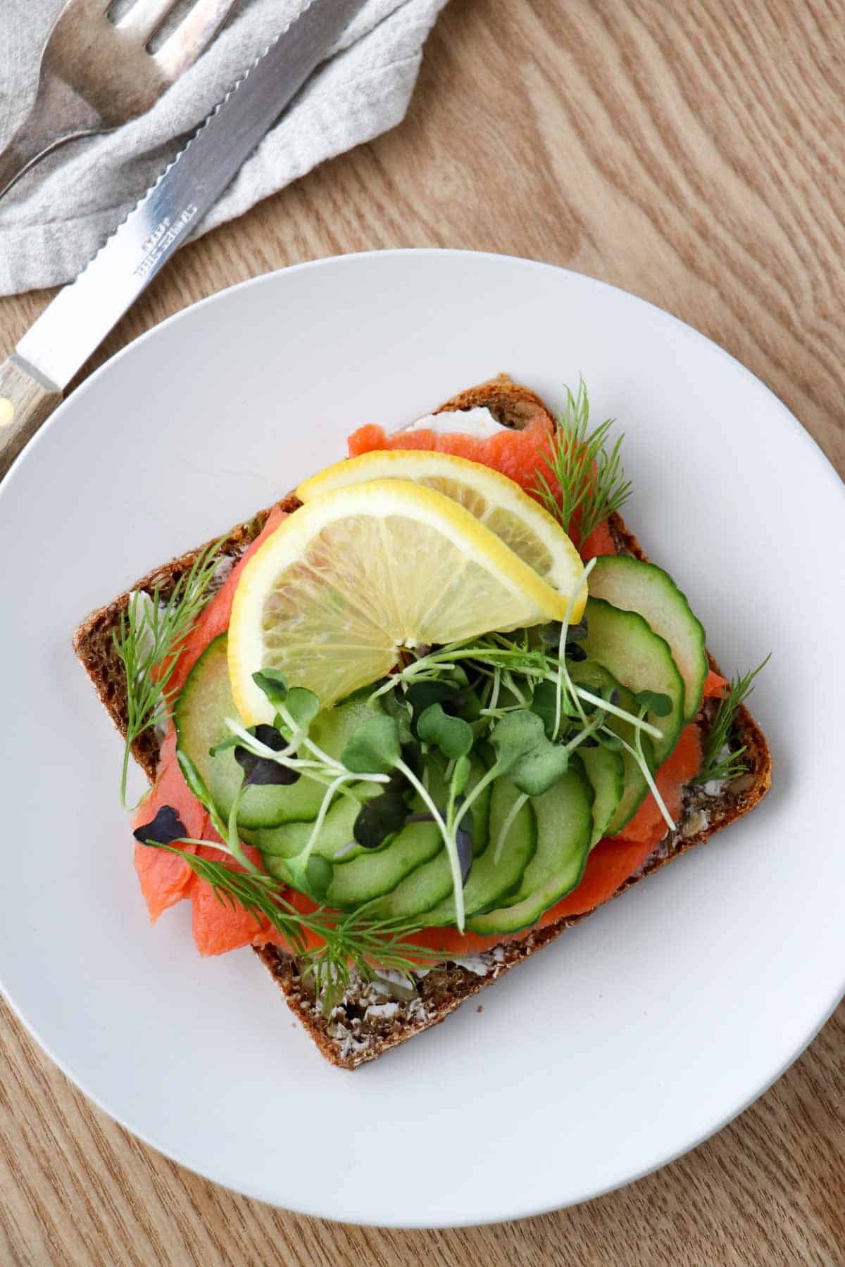
{"type": "Polygon", "coordinates": [[[208,599],[219,561],[218,549],[219,542],[214,542],[200,551],[166,602],[158,585],[152,594],[136,590],[120,613],[119,628],[111,634],[127,682],[127,740],[120,777],[120,801],[124,806],[132,745],[139,735],[166,718],[174,694],[167,684],[176,668],[177,651],[208,599]]]}

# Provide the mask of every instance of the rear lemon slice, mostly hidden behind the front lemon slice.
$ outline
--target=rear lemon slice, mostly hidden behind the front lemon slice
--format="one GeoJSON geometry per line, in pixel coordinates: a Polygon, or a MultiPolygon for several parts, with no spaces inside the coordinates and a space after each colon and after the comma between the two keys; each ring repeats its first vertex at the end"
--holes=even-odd
{"type": "MultiPolygon", "coordinates": [[[[547,584],[568,598],[578,593],[584,566],[560,523],[514,480],[466,457],[414,449],[361,454],[307,479],[296,497],[310,502],[337,488],[374,479],[407,479],[433,488],[464,506],[547,584]]],[[[580,620],[581,609],[583,603],[574,620],[580,620]]]]}

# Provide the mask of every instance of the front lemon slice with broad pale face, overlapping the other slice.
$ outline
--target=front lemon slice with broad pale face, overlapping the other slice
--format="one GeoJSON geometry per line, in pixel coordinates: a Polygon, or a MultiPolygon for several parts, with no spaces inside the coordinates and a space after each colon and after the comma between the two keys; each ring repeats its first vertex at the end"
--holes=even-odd
{"type": "Polygon", "coordinates": [[[462,506],[400,480],[315,497],[243,569],[229,625],[232,694],[248,725],[274,668],[326,707],[383,678],[400,647],[561,620],[566,599],[462,506]]]}

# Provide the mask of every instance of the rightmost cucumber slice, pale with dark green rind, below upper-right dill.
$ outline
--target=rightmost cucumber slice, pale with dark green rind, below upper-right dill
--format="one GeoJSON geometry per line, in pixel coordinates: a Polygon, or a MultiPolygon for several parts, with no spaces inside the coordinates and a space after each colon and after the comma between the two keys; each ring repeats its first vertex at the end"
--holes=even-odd
{"type": "Polygon", "coordinates": [[[684,721],[692,721],[702,706],[709,665],[704,627],[693,616],[687,595],[663,568],[625,555],[600,555],[590,573],[589,587],[593,598],[604,598],[626,612],[639,612],[654,632],[666,640],[684,679],[684,721]]]}

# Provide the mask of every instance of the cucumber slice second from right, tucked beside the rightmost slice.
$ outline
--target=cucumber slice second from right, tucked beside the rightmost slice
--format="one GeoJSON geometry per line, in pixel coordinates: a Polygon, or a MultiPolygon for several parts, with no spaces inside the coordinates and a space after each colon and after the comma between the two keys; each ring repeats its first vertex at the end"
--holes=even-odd
{"type": "Polygon", "coordinates": [[[604,665],[633,694],[655,691],[671,701],[668,717],[646,713],[646,721],[663,734],[654,740],[654,758],[660,765],[684,723],[684,682],[669,644],[637,612],[622,612],[603,598],[588,598],[584,620],[587,637],[581,646],[592,660],[604,665]]]}

